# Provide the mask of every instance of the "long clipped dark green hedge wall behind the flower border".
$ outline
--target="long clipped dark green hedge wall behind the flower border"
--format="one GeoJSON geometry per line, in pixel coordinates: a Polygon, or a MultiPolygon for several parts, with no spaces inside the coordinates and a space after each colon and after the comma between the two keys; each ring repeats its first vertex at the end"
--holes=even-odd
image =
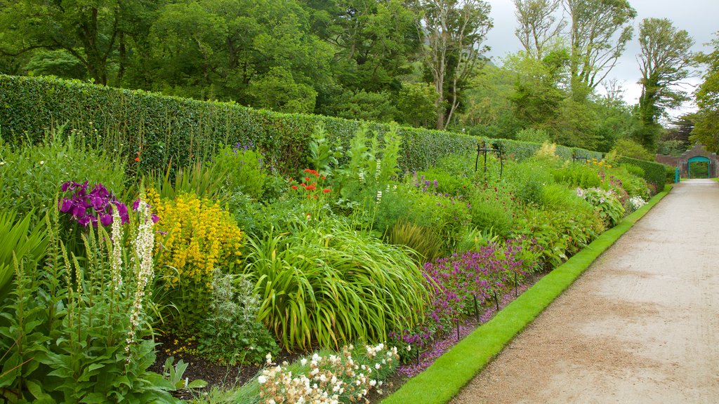
{"type": "MultiPolygon", "coordinates": [[[[145,171],[173,162],[188,164],[220,144],[257,146],[280,170],[303,167],[305,147],[318,121],[332,139],[347,146],[360,121],[305,114],[280,114],[234,103],[196,101],[145,91],[95,86],[58,78],[0,75],[0,134],[4,139],[38,141],[51,127],[67,123],[101,136],[106,147],[122,150],[129,167],[145,171]],[[139,154],[139,162],[135,157],[139,154]]],[[[382,134],[388,125],[370,123],[382,134]]],[[[478,139],[429,129],[400,128],[404,170],[421,170],[448,154],[472,152],[478,139]]],[[[93,138],[96,139],[96,138],[93,138]]],[[[493,142],[487,139],[488,142],[493,142]]],[[[539,144],[498,140],[507,155],[533,155],[539,144]]],[[[557,147],[564,158],[600,158],[600,152],[557,147]]]]}

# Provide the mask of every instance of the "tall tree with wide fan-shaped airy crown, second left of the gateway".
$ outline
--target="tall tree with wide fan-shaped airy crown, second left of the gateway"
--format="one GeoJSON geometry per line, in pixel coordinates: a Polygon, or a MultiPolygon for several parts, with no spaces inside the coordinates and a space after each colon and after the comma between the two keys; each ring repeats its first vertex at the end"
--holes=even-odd
{"type": "Polygon", "coordinates": [[[572,93],[584,98],[607,77],[632,37],[627,0],[562,0],[569,14],[572,93]]]}

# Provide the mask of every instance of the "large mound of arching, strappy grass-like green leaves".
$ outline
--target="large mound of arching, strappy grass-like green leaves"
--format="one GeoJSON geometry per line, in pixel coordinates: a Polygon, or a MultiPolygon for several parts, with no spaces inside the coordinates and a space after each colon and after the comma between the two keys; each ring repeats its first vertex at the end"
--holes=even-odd
{"type": "Polygon", "coordinates": [[[245,262],[259,318],[289,350],[384,341],[418,322],[426,298],[408,252],[337,220],[249,239],[245,262]]]}

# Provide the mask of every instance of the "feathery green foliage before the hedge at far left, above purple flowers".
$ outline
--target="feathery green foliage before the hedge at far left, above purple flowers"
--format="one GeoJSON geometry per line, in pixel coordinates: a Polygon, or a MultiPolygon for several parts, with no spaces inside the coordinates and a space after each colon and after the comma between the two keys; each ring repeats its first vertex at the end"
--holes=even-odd
{"type": "Polygon", "coordinates": [[[52,209],[65,181],[102,183],[115,194],[124,188],[122,162],[109,150],[90,147],[83,133],[65,132],[60,127],[27,147],[0,140],[0,209],[22,215],[33,211],[32,223],[37,224],[52,209]]]}

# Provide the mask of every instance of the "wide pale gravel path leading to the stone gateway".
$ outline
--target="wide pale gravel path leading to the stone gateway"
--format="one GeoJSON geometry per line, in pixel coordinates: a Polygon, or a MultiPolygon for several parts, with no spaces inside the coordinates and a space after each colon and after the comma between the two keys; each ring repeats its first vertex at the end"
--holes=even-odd
{"type": "Polygon", "coordinates": [[[452,400],[719,403],[719,183],[677,185],[452,400]]]}

